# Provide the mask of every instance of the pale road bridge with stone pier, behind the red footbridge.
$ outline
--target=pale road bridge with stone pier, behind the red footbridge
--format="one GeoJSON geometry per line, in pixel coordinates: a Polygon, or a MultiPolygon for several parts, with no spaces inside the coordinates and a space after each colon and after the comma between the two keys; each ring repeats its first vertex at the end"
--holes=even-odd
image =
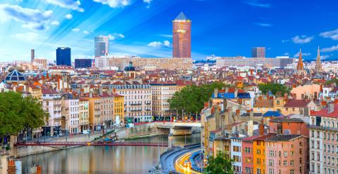
{"type": "Polygon", "coordinates": [[[157,128],[169,128],[172,135],[190,135],[201,130],[201,122],[156,122],[157,128]]]}

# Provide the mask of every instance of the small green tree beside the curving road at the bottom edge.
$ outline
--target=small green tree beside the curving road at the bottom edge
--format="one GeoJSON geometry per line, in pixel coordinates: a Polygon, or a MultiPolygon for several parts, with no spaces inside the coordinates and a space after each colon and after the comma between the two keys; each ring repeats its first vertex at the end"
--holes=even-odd
{"type": "Polygon", "coordinates": [[[224,152],[218,152],[214,158],[210,156],[208,166],[204,168],[204,174],[233,174],[232,160],[227,159],[224,152]]]}

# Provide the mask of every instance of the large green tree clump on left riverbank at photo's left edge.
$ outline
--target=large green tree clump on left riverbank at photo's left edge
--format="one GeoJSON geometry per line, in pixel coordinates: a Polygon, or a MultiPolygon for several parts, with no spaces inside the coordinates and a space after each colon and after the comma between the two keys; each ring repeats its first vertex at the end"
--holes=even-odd
{"type": "Polygon", "coordinates": [[[25,134],[34,128],[44,125],[48,113],[44,112],[41,103],[20,93],[0,93],[0,138],[1,146],[4,136],[25,134]]]}

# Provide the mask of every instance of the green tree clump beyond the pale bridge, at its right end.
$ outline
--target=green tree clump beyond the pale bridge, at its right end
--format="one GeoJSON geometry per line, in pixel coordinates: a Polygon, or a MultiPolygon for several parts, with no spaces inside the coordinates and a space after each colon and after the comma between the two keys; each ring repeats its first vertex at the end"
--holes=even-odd
{"type": "Polygon", "coordinates": [[[201,112],[204,107],[204,102],[208,102],[209,98],[213,94],[214,88],[223,88],[226,85],[220,82],[214,82],[211,84],[204,84],[201,86],[185,86],[181,91],[174,93],[173,98],[168,100],[170,109],[177,111],[181,114],[189,115],[201,112]]]}

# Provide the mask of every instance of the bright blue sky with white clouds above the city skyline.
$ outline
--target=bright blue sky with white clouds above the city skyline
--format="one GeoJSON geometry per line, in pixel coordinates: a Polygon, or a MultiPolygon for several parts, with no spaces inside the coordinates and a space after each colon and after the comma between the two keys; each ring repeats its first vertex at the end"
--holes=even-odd
{"type": "Polygon", "coordinates": [[[111,36],[113,55],[172,56],[172,20],[192,20],[192,56],[251,55],[338,59],[338,1],[0,0],[0,61],[55,60],[56,48],[92,58],[94,36],[111,36]]]}

